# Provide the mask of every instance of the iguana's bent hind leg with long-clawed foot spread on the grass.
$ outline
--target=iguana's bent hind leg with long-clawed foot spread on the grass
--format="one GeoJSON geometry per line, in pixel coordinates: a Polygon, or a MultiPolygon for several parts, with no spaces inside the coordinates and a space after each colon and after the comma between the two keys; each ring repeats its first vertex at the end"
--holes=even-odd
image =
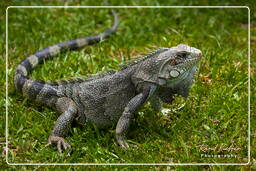
{"type": "Polygon", "coordinates": [[[77,114],[77,106],[70,98],[62,97],[57,100],[56,108],[62,114],[55,123],[47,145],[57,144],[58,151],[61,152],[62,147],[64,149],[71,148],[63,137],[71,128],[71,124],[77,114]]]}

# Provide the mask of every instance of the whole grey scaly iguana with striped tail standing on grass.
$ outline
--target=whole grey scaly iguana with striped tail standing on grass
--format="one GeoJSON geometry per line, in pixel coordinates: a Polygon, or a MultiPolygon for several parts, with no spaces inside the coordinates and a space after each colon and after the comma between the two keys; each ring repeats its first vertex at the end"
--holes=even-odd
{"type": "Polygon", "coordinates": [[[73,121],[91,122],[99,128],[116,125],[116,140],[121,147],[129,147],[125,140],[134,113],[150,100],[159,109],[159,100],[170,103],[174,94],[188,96],[201,51],[181,44],[160,48],[131,62],[120,70],[95,77],[66,79],[57,82],[33,80],[28,74],[44,60],[61,52],[77,50],[109,37],[118,26],[118,16],[105,32],[59,43],[25,58],[14,75],[15,87],[23,96],[55,108],[58,117],[48,144],[57,144],[58,151],[70,148],[64,136],[73,121]]]}

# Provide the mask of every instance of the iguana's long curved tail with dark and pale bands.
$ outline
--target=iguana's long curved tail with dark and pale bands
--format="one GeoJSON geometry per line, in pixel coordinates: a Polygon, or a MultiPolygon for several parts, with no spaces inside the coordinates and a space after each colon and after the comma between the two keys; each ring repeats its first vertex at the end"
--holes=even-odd
{"type": "MultiPolygon", "coordinates": [[[[114,33],[118,26],[118,16],[115,11],[112,10],[114,16],[114,24],[111,28],[107,29],[103,33],[80,38],[76,40],[70,40],[63,43],[59,43],[43,50],[36,52],[33,55],[25,58],[17,67],[14,75],[15,87],[19,92],[22,92],[24,96],[29,97],[30,99],[37,99],[38,94],[41,93],[43,96],[57,95],[57,85],[47,84],[43,81],[32,80],[28,77],[28,74],[40,63],[43,63],[44,60],[47,60],[51,57],[56,56],[59,53],[66,52],[68,50],[77,50],[86,45],[92,45],[100,42],[101,40],[109,37],[114,33]]],[[[41,99],[42,100],[42,99],[41,99]]],[[[41,101],[38,100],[38,101],[41,101]]]]}

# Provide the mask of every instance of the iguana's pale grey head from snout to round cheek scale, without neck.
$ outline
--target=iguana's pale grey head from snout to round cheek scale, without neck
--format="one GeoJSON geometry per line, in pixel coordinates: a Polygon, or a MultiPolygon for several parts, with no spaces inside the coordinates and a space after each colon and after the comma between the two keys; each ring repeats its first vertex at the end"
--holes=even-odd
{"type": "Polygon", "coordinates": [[[169,87],[174,82],[191,76],[201,56],[202,52],[199,49],[185,44],[169,48],[159,54],[157,60],[160,60],[162,64],[159,68],[158,83],[169,87]]]}

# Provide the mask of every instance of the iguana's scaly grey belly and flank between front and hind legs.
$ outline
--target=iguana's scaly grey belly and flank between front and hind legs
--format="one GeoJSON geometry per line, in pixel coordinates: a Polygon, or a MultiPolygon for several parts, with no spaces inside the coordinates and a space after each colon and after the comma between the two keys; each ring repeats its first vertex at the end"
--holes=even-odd
{"type": "Polygon", "coordinates": [[[113,75],[81,85],[79,120],[92,122],[99,128],[116,124],[136,90],[130,77],[113,75]]]}

